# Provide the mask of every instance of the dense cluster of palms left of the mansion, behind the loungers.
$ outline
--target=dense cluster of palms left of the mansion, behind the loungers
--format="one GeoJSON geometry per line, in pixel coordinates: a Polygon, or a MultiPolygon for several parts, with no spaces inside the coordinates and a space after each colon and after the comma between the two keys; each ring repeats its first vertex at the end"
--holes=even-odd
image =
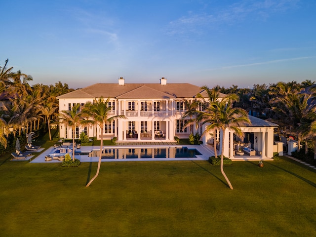
{"type": "Polygon", "coordinates": [[[49,123],[58,118],[56,97],[70,92],[68,85],[60,81],[31,86],[32,80],[30,75],[9,67],[8,59],[0,65],[0,144],[4,147],[11,135],[24,136],[41,127],[50,133],[49,123]]]}

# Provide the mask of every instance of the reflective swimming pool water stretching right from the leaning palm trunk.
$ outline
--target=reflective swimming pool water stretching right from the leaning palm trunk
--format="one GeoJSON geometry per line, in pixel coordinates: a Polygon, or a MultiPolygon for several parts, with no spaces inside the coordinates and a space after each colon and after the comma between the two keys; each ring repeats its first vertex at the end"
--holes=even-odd
{"type": "Polygon", "coordinates": [[[168,148],[115,148],[104,149],[102,159],[135,158],[197,158],[202,155],[197,149],[187,147],[168,148]]]}

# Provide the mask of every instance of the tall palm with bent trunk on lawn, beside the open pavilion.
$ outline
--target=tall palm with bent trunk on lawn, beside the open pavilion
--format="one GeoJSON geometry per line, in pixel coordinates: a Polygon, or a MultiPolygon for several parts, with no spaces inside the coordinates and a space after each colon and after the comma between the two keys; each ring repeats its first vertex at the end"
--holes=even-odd
{"type": "Polygon", "coordinates": [[[202,121],[202,124],[208,123],[205,130],[220,129],[223,133],[221,138],[221,172],[232,190],[233,186],[223,169],[225,130],[233,130],[238,137],[242,138],[244,133],[240,129],[240,124],[251,123],[245,110],[233,107],[233,103],[237,100],[236,94],[227,95],[221,101],[211,102],[205,112],[200,112],[197,117],[197,120],[202,121]]]}

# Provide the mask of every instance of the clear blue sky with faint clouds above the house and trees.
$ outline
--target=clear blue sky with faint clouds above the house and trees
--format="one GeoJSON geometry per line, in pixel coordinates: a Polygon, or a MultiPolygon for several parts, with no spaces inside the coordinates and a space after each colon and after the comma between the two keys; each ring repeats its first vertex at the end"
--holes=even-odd
{"type": "Polygon", "coordinates": [[[316,80],[314,0],[9,0],[0,65],[33,82],[316,80]]]}

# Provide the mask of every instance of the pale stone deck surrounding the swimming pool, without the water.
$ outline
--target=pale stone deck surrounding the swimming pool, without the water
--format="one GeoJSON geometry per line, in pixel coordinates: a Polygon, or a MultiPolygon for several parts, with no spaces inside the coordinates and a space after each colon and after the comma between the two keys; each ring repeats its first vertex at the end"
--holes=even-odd
{"type": "MultiPolygon", "coordinates": [[[[101,159],[102,162],[118,162],[118,161],[179,161],[179,160],[208,160],[209,157],[214,156],[214,152],[206,146],[200,145],[143,145],[143,146],[135,146],[135,145],[125,145],[125,146],[103,146],[103,149],[144,149],[144,148],[169,148],[169,147],[187,147],[188,149],[197,149],[199,153],[202,155],[197,155],[197,158],[117,158],[117,159],[101,159]]],[[[69,146],[72,148],[72,146],[69,146]]],[[[31,158],[30,163],[61,163],[58,159],[52,159],[50,161],[45,161],[45,156],[49,156],[52,154],[56,148],[50,147],[43,151],[38,157],[31,158]]],[[[82,152],[91,152],[91,151],[100,151],[100,146],[82,146],[79,149],[76,149],[82,152]]],[[[72,156],[72,153],[71,153],[72,156]]],[[[75,155],[75,158],[79,159],[81,162],[98,162],[99,157],[88,157],[87,155],[75,155]]]]}

